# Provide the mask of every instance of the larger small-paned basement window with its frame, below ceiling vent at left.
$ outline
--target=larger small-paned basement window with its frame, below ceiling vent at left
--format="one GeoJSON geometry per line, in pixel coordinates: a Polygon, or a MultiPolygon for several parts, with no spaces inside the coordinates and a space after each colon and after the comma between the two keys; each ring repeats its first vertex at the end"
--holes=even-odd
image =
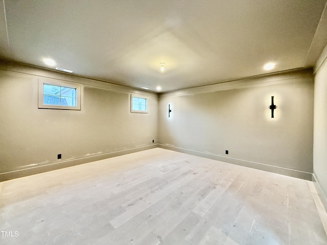
{"type": "Polygon", "coordinates": [[[81,86],[59,80],[39,79],[38,108],[81,109],[81,86]]]}

